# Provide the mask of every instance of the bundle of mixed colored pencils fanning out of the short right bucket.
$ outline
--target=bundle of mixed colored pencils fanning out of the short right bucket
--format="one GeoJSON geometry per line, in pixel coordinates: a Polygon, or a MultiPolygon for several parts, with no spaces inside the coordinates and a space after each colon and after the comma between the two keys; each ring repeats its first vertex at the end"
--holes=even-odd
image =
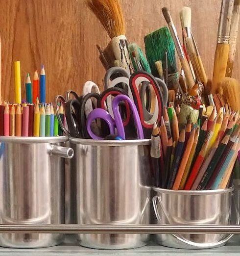
{"type": "MultiPolygon", "coordinates": [[[[227,105],[226,105],[227,107],[227,105]]],[[[240,150],[239,111],[223,107],[200,116],[198,124],[178,130],[172,106],[166,108],[152,139],[160,140],[156,184],[173,190],[208,190],[231,186],[234,164],[240,150]],[[161,170],[159,172],[159,170],[161,170]]]]}

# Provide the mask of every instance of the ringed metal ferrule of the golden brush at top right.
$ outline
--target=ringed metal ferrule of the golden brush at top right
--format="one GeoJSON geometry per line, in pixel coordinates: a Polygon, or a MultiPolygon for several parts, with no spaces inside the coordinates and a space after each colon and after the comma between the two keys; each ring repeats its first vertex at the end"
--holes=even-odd
{"type": "Polygon", "coordinates": [[[222,0],[217,32],[217,43],[219,44],[229,43],[233,7],[234,0],[222,0]]]}

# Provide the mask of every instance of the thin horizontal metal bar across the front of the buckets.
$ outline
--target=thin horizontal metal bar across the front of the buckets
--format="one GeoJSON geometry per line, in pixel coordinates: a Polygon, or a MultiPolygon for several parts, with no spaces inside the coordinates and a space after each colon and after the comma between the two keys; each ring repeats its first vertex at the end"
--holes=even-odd
{"type": "Polygon", "coordinates": [[[0,225],[0,233],[240,233],[238,225],[0,225]]]}

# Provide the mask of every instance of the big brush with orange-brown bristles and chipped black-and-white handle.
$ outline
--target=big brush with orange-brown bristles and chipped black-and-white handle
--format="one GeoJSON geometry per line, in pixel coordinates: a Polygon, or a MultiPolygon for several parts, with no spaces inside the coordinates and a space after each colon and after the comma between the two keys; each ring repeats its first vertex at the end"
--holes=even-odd
{"type": "Polygon", "coordinates": [[[125,21],[118,0],[88,0],[88,6],[96,15],[111,38],[110,45],[120,67],[131,72],[128,43],[125,37],[125,21]]]}

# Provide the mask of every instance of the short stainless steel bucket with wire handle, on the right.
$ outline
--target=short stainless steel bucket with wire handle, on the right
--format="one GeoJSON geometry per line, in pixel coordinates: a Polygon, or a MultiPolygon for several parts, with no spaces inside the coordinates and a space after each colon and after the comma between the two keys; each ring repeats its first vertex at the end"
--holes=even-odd
{"type": "MultiPolygon", "coordinates": [[[[153,208],[158,224],[230,224],[233,188],[185,191],[154,187],[153,208]]],[[[235,201],[234,201],[235,202],[235,201]]],[[[239,224],[238,207],[235,205],[239,224]]],[[[235,224],[236,224],[235,223],[235,224]]],[[[159,244],[181,249],[204,249],[224,245],[233,234],[157,234],[159,244]]]]}

